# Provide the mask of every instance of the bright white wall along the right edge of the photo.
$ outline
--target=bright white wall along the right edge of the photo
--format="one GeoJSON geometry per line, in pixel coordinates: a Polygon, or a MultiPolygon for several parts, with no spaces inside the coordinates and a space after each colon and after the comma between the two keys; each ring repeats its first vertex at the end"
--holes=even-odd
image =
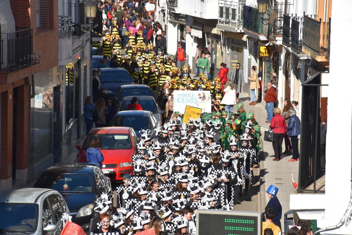
{"type": "MultiPolygon", "coordinates": [[[[339,223],[344,215],[351,192],[351,120],[352,96],[350,78],[345,74],[348,61],[346,44],[341,38],[351,38],[352,33],[346,30],[346,25],[352,24],[352,1],[333,1],[331,23],[331,54],[328,97],[328,125],[326,136],[326,177],[325,219],[318,221],[318,227],[328,227],[339,223]],[[347,86],[346,86],[347,85],[347,86]],[[343,113],[343,126],[336,121],[336,114],[343,113]],[[338,137],[338,143],[337,143],[338,137]],[[338,145],[338,146],[337,146],[338,145]]],[[[339,229],[327,231],[324,234],[352,234],[352,224],[342,225],[339,229]]]]}

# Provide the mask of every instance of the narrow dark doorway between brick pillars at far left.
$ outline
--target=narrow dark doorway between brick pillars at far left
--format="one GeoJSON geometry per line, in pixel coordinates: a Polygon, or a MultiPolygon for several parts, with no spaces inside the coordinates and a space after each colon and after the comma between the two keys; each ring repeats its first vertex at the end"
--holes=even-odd
{"type": "Polygon", "coordinates": [[[16,149],[17,149],[17,87],[13,88],[12,90],[12,181],[16,180],[16,168],[17,168],[16,149]]]}

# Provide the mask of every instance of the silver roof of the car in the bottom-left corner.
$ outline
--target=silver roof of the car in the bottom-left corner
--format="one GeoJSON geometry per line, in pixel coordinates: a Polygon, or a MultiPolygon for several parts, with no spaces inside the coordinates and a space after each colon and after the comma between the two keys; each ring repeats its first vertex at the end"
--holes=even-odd
{"type": "Polygon", "coordinates": [[[18,188],[0,191],[0,202],[36,203],[46,192],[55,191],[48,188],[18,188]]]}

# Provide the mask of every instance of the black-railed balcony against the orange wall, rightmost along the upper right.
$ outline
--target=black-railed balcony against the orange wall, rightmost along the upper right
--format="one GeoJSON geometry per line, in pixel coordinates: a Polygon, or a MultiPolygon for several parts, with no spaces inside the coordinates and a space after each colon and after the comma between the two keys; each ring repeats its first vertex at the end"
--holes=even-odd
{"type": "MultiPolygon", "coordinates": [[[[316,18],[316,17],[315,17],[316,18]]],[[[327,61],[329,56],[330,21],[322,22],[309,16],[303,21],[303,52],[317,61],[327,61]]]]}

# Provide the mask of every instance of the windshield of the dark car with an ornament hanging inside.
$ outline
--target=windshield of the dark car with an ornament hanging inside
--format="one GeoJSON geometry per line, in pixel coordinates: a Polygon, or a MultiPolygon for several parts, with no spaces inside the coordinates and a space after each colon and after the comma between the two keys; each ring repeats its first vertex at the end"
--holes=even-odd
{"type": "Polygon", "coordinates": [[[89,174],[44,175],[36,183],[37,188],[52,188],[59,193],[93,193],[93,178],[89,174]]]}

